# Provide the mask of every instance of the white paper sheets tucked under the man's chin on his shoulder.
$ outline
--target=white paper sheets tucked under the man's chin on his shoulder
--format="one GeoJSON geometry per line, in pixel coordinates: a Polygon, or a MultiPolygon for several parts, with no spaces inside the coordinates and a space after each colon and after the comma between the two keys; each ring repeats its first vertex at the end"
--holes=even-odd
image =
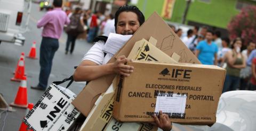
{"type": "Polygon", "coordinates": [[[122,35],[116,33],[110,33],[108,40],[106,41],[103,51],[115,55],[119,49],[132,37],[132,35],[122,35]]]}

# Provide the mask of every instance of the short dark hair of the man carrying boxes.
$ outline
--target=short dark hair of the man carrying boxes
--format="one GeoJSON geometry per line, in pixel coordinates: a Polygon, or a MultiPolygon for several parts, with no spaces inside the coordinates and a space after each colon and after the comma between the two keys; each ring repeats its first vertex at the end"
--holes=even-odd
{"type": "Polygon", "coordinates": [[[140,25],[142,25],[145,22],[145,17],[142,14],[142,12],[139,10],[138,7],[136,7],[134,5],[124,5],[124,6],[119,7],[118,10],[116,11],[116,14],[115,14],[115,29],[117,28],[118,16],[122,12],[133,12],[133,13],[137,14],[138,21],[139,21],[140,25]]]}

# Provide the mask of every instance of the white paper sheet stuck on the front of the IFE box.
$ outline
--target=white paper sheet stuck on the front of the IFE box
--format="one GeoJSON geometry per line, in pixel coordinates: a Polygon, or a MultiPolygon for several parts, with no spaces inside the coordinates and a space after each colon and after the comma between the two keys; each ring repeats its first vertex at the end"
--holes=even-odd
{"type": "Polygon", "coordinates": [[[172,97],[157,96],[155,112],[185,113],[187,95],[173,93],[172,97]]]}

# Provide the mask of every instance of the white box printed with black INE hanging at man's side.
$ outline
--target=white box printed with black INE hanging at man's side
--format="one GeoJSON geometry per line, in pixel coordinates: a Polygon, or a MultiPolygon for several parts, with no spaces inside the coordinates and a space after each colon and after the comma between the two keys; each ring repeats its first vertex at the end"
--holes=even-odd
{"type": "Polygon", "coordinates": [[[71,104],[76,94],[60,85],[51,84],[26,117],[32,130],[68,130],[80,112],[71,104]]]}

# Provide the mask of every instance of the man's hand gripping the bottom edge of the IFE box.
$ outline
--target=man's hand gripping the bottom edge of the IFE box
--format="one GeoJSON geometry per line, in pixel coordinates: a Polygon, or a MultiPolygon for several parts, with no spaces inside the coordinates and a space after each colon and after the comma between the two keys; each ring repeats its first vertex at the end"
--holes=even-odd
{"type": "Polygon", "coordinates": [[[159,119],[155,114],[154,114],[154,119],[155,119],[156,125],[162,130],[170,131],[172,129],[172,123],[169,117],[166,114],[163,114],[162,111],[159,111],[159,119]]]}

